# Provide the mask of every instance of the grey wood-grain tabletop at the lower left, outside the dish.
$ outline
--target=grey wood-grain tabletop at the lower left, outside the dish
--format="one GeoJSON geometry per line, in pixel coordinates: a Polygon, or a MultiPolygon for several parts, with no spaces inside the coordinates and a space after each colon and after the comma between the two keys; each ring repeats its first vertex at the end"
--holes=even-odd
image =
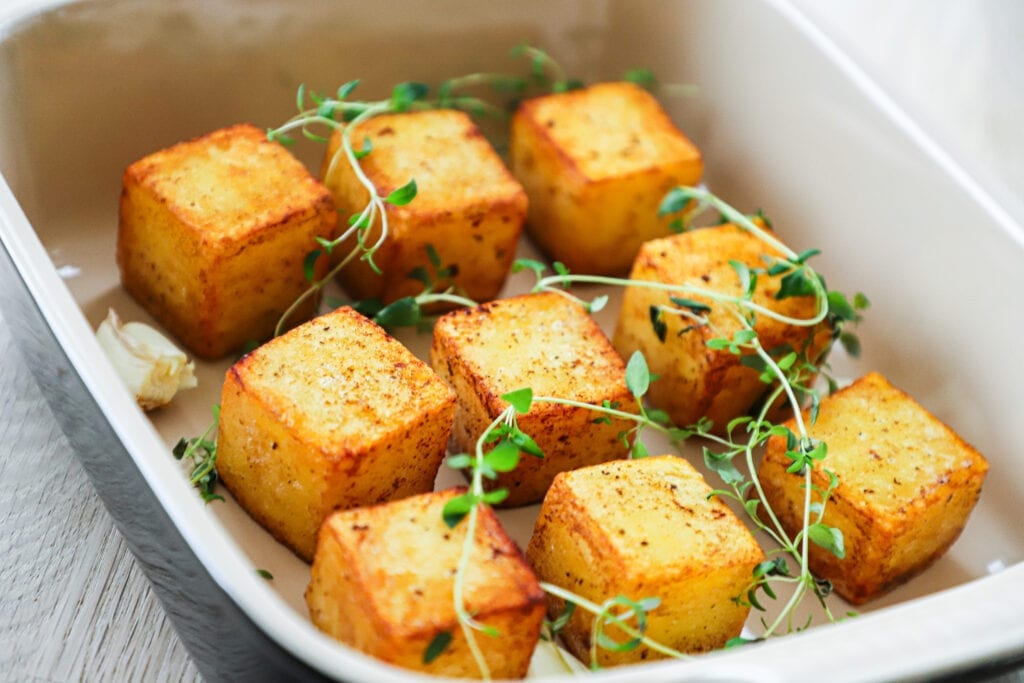
{"type": "Polygon", "coordinates": [[[2,314],[0,359],[0,680],[201,680],[2,314]]]}

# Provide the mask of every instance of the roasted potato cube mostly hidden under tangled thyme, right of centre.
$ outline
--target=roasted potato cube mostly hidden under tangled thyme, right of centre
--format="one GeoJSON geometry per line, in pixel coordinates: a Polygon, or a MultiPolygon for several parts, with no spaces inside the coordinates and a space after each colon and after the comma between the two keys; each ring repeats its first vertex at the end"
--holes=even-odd
{"type": "MultiPolygon", "coordinates": [[[[729,261],[739,261],[752,268],[763,267],[763,254],[777,252],[754,234],[726,223],[646,243],[637,254],[630,278],[740,296],[739,278],[729,261]]],[[[795,318],[813,317],[817,312],[813,297],[775,299],[779,280],[761,275],[754,303],[795,318]]],[[[682,291],[626,288],[613,335],[615,349],[624,357],[637,350],[643,352],[650,371],[659,377],[651,383],[647,397],[652,404],[667,411],[675,424],[688,426],[707,417],[714,421],[716,431],[721,432],[731,419],[743,415],[764,394],[767,386],[761,382],[760,373],[742,365],[741,356],[728,349],[708,348],[710,339],[731,339],[740,329],[734,310],[733,304],[682,291]],[[710,324],[696,325],[684,315],[667,311],[660,318],[665,327],[659,334],[651,321],[651,307],[679,309],[670,295],[710,306],[707,313],[710,324]]],[[[801,351],[806,347],[812,360],[831,341],[825,325],[787,325],[764,314],[758,315],[755,330],[765,349],[788,346],[801,351]]]]}

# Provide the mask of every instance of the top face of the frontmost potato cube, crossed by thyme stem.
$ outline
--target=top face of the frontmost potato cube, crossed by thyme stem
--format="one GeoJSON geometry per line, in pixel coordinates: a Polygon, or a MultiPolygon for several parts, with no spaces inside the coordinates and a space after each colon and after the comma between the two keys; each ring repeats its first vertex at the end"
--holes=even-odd
{"type": "MultiPolygon", "coordinates": [[[[331,533],[358,558],[349,565],[352,582],[367,586],[380,623],[400,638],[454,621],[453,578],[468,524],[454,528],[441,510],[458,489],[414,496],[387,505],[356,508],[328,517],[321,533],[331,533]],[[414,596],[411,599],[410,596],[414,596]]],[[[522,553],[490,508],[481,508],[464,596],[470,613],[537,604],[544,599],[522,553]]]]}

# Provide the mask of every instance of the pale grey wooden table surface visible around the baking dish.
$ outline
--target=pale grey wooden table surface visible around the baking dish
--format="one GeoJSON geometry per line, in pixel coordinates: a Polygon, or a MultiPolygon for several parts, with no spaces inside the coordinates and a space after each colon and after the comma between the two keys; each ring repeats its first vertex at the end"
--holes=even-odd
{"type": "MultiPolygon", "coordinates": [[[[795,1],[1024,221],[1024,3],[795,1]]],[[[2,313],[0,443],[0,680],[199,680],[2,313]]]]}

